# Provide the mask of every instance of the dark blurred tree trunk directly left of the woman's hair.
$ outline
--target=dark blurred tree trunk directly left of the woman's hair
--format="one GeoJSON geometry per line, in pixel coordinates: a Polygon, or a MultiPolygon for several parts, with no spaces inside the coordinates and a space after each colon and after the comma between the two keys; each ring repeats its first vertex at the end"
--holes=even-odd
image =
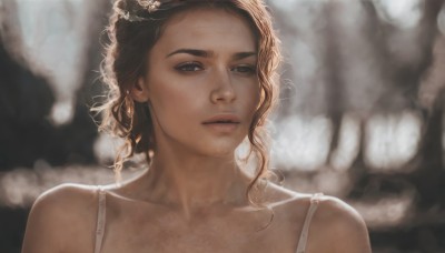
{"type": "MultiPolygon", "coordinates": [[[[83,33],[82,40],[87,41],[85,53],[85,64],[79,69],[82,73],[81,87],[76,94],[76,108],[72,121],[63,125],[60,131],[60,138],[65,138],[65,151],[69,154],[68,162],[76,163],[96,163],[93,143],[98,135],[97,125],[91,117],[89,109],[97,102],[97,98],[102,94],[100,80],[100,62],[102,60],[103,29],[107,14],[110,11],[111,2],[108,0],[87,1],[85,9],[89,10],[90,26],[83,33]],[[96,99],[95,99],[96,98],[96,99]]],[[[60,150],[53,150],[55,154],[60,150]]],[[[58,155],[57,155],[58,156],[58,155]]]]}

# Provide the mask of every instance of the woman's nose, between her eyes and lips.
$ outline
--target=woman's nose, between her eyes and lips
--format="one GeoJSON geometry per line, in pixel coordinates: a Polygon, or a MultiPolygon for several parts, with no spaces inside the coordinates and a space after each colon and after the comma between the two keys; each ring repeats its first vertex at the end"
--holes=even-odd
{"type": "Polygon", "coordinates": [[[212,103],[230,103],[236,99],[230,70],[216,71],[212,81],[215,84],[210,93],[212,103]]]}

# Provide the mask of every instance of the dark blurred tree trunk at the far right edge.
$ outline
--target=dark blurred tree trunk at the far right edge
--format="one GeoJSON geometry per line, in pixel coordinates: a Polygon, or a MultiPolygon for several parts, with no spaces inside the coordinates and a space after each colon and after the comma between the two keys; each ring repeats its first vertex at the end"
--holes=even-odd
{"type": "MultiPolygon", "coordinates": [[[[444,6],[444,0],[428,0],[425,1],[425,16],[422,20],[422,32],[423,38],[419,47],[422,48],[422,60],[416,65],[408,65],[400,68],[400,71],[396,75],[398,83],[407,83],[408,90],[407,95],[413,98],[415,104],[418,108],[419,100],[419,88],[422,79],[425,79],[429,72],[435,69],[441,70],[443,73],[443,65],[438,64],[437,58],[443,58],[437,52],[434,54],[435,42],[442,37],[437,28],[437,17],[444,6]],[[405,74],[403,74],[405,73],[405,74]]],[[[439,43],[444,47],[444,43],[439,43]]],[[[445,52],[442,48],[439,52],[445,52]]],[[[445,77],[442,74],[442,82],[445,81],[445,77]]],[[[403,89],[403,88],[400,88],[403,89]]],[[[438,91],[438,95],[435,98],[433,107],[429,110],[429,115],[424,125],[424,138],[419,148],[419,165],[412,174],[412,182],[416,185],[418,191],[418,209],[419,211],[427,211],[429,208],[437,204],[443,205],[445,203],[443,192],[445,191],[445,170],[443,164],[443,142],[442,136],[444,132],[444,101],[445,90],[438,91]]]]}

